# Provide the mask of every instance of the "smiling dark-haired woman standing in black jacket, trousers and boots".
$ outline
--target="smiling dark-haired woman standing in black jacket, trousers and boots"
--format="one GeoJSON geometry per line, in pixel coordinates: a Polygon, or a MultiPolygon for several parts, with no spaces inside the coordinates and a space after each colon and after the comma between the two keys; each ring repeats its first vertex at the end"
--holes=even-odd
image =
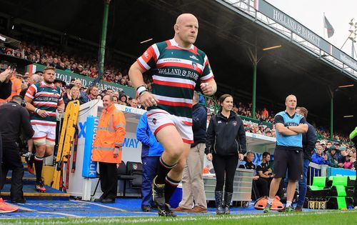
{"type": "Polygon", "coordinates": [[[212,116],[208,125],[205,153],[216,171],[216,214],[230,214],[234,174],[236,174],[238,159],[243,160],[243,154],[246,153],[246,131],[241,118],[231,111],[233,97],[223,94],[219,98],[219,104],[221,111],[216,116],[212,116]],[[226,186],[223,203],[224,183],[226,186]]]}

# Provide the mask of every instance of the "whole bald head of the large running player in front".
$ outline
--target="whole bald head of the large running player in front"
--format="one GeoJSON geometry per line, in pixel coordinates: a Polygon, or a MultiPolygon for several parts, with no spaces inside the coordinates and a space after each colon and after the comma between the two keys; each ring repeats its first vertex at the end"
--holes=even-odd
{"type": "Polygon", "coordinates": [[[190,49],[198,34],[198,20],[193,14],[181,14],[174,25],[174,39],[178,46],[190,49]]]}

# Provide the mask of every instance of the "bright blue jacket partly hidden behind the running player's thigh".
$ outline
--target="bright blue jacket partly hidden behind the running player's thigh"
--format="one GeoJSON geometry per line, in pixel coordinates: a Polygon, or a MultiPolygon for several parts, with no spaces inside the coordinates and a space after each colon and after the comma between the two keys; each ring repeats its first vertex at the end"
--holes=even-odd
{"type": "Polygon", "coordinates": [[[164,147],[156,140],[151,132],[146,113],[144,113],[136,127],[136,139],[141,141],[141,157],[144,156],[161,156],[164,147]]]}

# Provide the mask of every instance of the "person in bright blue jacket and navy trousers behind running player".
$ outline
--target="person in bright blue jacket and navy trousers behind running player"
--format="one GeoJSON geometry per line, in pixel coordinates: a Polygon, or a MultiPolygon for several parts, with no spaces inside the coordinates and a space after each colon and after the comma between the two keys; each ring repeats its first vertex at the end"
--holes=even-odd
{"type": "Polygon", "coordinates": [[[152,199],[151,185],[156,176],[159,159],[164,151],[164,147],[156,140],[151,132],[146,113],[141,116],[136,127],[136,139],[141,141],[141,162],[143,163],[143,183],[141,186],[141,209],[150,211],[154,206],[152,199]]]}

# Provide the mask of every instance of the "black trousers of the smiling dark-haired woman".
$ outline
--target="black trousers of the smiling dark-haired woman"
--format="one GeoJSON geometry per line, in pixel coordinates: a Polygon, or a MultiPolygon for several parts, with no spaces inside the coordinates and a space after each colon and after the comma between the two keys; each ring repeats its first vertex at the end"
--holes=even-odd
{"type": "Polygon", "coordinates": [[[215,191],[224,191],[233,193],[233,180],[236,174],[238,164],[238,154],[233,156],[220,156],[213,154],[212,164],[216,172],[216,189],[215,191]],[[226,177],[226,182],[225,178],[226,177]]]}

